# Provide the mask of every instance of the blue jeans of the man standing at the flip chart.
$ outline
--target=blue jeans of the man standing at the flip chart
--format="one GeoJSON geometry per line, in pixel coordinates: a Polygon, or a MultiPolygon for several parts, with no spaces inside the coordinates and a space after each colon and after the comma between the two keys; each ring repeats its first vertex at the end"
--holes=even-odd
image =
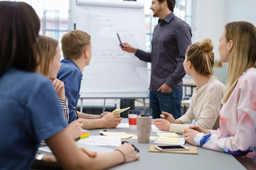
{"type": "Polygon", "coordinates": [[[168,94],[161,91],[149,92],[149,106],[152,109],[153,118],[160,118],[161,112],[168,112],[175,119],[181,117],[182,89],[172,89],[168,94]]]}

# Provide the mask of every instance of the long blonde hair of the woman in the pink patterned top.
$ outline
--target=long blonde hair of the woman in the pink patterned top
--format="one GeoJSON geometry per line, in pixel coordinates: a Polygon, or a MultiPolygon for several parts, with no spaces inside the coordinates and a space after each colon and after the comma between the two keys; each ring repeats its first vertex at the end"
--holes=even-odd
{"type": "Polygon", "coordinates": [[[256,28],[245,21],[228,23],[225,25],[225,38],[227,42],[233,40],[233,48],[230,50],[227,89],[223,103],[228,101],[242,73],[256,67],[256,28]]]}

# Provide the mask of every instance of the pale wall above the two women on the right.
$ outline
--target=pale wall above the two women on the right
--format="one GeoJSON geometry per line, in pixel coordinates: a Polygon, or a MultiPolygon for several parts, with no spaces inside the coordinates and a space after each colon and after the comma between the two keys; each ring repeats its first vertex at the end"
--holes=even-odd
{"type": "Polygon", "coordinates": [[[210,38],[215,60],[219,60],[218,40],[226,23],[248,21],[256,26],[255,0],[194,0],[193,42],[210,38]]]}

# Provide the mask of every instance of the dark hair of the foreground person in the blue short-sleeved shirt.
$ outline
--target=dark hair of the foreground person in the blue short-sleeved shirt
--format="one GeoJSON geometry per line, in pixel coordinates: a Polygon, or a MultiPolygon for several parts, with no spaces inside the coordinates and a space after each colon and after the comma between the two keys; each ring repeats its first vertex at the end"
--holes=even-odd
{"type": "Polygon", "coordinates": [[[0,75],[9,67],[35,72],[40,21],[24,2],[0,1],[0,75]]]}

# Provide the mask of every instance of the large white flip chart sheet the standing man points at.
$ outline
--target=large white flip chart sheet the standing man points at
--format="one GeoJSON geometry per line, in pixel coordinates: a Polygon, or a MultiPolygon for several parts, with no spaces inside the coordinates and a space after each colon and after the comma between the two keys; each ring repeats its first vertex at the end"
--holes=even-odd
{"type": "MultiPolygon", "coordinates": [[[[122,42],[146,49],[144,4],[136,1],[78,0],[76,29],[91,35],[92,60],[85,67],[80,94],[148,94],[147,64],[119,48],[122,42]]],[[[106,96],[107,97],[107,96],[106,96]]]]}

